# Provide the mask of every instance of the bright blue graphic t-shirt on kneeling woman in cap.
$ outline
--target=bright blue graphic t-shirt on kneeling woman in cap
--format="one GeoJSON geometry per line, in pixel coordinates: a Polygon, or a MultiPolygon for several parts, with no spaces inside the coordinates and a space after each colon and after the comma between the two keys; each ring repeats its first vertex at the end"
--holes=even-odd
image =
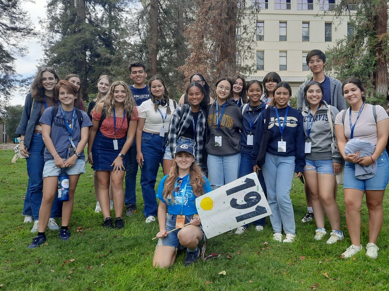
{"type": "MultiPolygon", "coordinates": [[[[166,201],[163,199],[163,188],[165,185],[166,177],[168,177],[168,175],[162,178],[161,182],[159,183],[158,191],[157,191],[157,197],[163,203],[166,203],[166,201]]],[[[177,181],[179,179],[181,178],[178,177],[177,181]]],[[[205,194],[212,191],[212,189],[207,177],[204,176],[204,180],[205,182],[203,184],[203,189],[205,194]]],[[[177,186],[177,183],[175,186],[177,186]]],[[[176,193],[173,189],[173,195],[174,195],[174,201],[172,201],[173,200],[172,196],[168,196],[168,203],[166,203],[168,208],[168,213],[174,215],[180,215],[181,210],[183,215],[193,215],[197,213],[196,202],[195,202],[197,196],[193,192],[192,186],[189,182],[189,174],[182,178],[180,190],[178,191],[178,193],[176,193]]]]}

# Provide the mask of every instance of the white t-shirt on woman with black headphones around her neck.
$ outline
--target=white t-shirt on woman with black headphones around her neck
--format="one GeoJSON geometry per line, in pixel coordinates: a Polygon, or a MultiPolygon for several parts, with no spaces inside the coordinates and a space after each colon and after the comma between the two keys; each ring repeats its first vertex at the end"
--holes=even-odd
{"type": "Polygon", "coordinates": [[[163,126],[165,128],[165,133],[168,132],[169,129],[169,123],[170,118],[172,117],[172,114],[174,112],[174,104],[173,100],[169,99],[169,106],[170,106],[170,114],[167,114],[166,116],[166,110],[167,105],[161,106],[159,105],[158,108],[161,111],[163,118],[166,119],[164,122],[162,122],[162,116],[159,113],[159,111],[155,111],[154,109],[154,103],[151,101],[151,98],[144,101],[142,104],[140,104],[138,108],[139,118],[145,118],[145,125],[144,129],[150,132],[161,132],[161,127],[163,126]]]}

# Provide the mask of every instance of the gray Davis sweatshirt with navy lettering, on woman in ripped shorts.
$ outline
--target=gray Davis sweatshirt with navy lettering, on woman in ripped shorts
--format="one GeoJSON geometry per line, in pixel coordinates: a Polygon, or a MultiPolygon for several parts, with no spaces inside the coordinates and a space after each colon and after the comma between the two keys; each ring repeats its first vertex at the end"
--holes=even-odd
{"type": "MultiPolygon", "coordinates": [[[[304,118],[304,133],[305,133],[305,142],[307,142],[307,125],[308,125],[308,110],[309,107],[305,107],[305,110],[302,112],[304,118]]],[[[332,126],[334,129],[334,147],[331,150],[332,144],[332,135],[331,127],[329,125],[328,119],[328,104],[325,101],[321,101],[320,108],[317,109],[315,115],[310,113],[311,118],[313,118],[312,127],[309,135],[309,141],[312,142],[311,152],[305,154],[306,159],[311,159],[313,161],[322,161],[332,159],[334,163],[342,163],[343,159],[338,151],[336,136],[335,136],[335,117],[339,113],[338,109],[334,106],[329,106],[329,112],[331,114],[332,126]]]]}

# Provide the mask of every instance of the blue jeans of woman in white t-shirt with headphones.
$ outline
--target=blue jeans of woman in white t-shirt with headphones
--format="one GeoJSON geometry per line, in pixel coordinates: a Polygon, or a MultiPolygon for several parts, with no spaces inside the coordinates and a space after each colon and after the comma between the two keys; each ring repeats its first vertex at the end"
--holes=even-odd
{"type": "Polygon", "coordinates": [[[157,216],[157,197],[155,196],[155,182],[159,164],[163,167],[166,137],[158,133],[142,133],[143,167],[140,173],[140,186],[144,201],[143,213],[145,217],[157,216]]]}

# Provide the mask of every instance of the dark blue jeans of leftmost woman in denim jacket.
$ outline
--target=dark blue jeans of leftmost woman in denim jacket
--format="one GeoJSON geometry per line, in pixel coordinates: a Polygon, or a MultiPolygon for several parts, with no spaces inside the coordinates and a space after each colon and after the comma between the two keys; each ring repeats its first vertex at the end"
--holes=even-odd
{"type": "MultiPolygon", "coordinates": [[[[42,140],[42,134],[33,133],[28,148],[30,157],[26,158],[28,184],[25,195],[25,201],[23,203],[23,215],[32,215],[34,220],[39,220],[39,208],[42,203],[43,196],[43,167],[45,161],[43,155],[40,154],[44,143],[42,140]]],[[[55,218],[58,211],[58,198],[54,199],[53,206],[51,208],[51,218],[55,218]]]]}

